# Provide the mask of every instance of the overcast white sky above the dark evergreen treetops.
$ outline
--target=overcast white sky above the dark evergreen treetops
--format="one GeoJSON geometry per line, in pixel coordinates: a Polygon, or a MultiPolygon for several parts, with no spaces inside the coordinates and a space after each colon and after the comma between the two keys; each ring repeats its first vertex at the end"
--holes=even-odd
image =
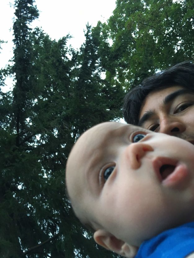
{"type": "MultiPolygon", "coordinates": [[[[116,0],[36,0],[39,18],[34,27],[42,27],[52,39],[58,40],[68,33],[74,48],[79,48],[84,42],[83,30],[85,24],[96,26],[97,21],[106,21],[115,9],[116,0]]],[[[0,68],[12,57],[12,34],[14,8],[10,7],[13,0],[0,0],[0,39],[8,41],[2,44],[0,53],[0,68]]]]}

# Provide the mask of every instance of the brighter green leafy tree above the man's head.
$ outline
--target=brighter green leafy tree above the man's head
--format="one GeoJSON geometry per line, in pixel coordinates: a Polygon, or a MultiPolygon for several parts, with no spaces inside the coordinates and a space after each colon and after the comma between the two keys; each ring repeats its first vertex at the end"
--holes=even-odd
{"type": "Polygon", "coordinates": [[[108,24],[98,24],[108,35],[102,47],[111,85],[128,90],[156,70],[193,59],[193,13],[193,1],[117,0],[108,24]]]}

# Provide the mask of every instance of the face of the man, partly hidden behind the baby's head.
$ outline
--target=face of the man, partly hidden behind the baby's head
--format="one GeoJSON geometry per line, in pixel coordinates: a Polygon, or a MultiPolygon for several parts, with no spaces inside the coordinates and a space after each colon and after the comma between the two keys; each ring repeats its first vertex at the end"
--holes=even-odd
{"type": "Polygon", "coordinates": [[[151,92],[142,104],[138,125],[194,143],[194,93],[181,86],[151,92]]]}

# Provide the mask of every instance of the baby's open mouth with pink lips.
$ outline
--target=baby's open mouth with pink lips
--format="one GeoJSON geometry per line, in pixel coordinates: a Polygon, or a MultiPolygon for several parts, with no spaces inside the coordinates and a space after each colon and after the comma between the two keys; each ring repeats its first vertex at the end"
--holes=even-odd
{"type": "Polygon", "coordinates": [[[153,168],[163,186],[174,186],[188,175],[188,168],[178,160],[157,157],[153,160],[153,168]]]}

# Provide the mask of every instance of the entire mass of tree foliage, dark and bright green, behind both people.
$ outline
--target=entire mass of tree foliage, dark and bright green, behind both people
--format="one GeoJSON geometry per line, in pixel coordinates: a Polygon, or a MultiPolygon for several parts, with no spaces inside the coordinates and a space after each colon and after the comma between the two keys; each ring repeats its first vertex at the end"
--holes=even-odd
{"type": "MultiPolygon", "coordinates": [[[[193,1],[117,0],[108,23],[69,35],[31,29],[33,0],[16,0],[13,65],[0,71],[0,254],[116,257],[92,240],[65,197],[65,163],[79,135],[121,116],[124,90],[158,69],[193,59],[193,1]],[[106,73],[106,79],[103,79],[106,73]]],[[[0,41],[0,43],[3,43],[0,41]]]]}

